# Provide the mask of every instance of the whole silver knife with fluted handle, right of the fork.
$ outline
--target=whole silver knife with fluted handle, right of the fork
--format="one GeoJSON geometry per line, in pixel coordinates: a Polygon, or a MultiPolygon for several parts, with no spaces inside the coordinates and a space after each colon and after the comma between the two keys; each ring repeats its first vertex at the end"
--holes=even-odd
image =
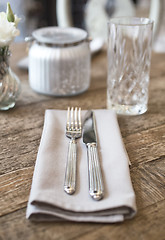
{"type": "Polygon", "coordinates": [[[89,194],[94,200],[103,198],[103,179],[97,150],[96,123],[93,111],[88,111],[83,124],[83,142],[87,147],[89,194]]]}

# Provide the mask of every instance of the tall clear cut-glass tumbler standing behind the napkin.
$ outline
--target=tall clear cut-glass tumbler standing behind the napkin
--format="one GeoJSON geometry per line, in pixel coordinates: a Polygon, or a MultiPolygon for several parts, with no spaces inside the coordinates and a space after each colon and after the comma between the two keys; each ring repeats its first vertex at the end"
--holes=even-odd
{"type": "Polygon", "coordinates": [[[153,21],[112,18],[108,22],[107,108],[118,114],[147,111],[153,21]]]}

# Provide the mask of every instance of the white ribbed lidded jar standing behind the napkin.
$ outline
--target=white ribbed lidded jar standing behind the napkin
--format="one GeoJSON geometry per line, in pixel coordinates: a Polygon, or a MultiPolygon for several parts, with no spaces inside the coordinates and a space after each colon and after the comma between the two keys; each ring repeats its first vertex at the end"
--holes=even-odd
{"type": "Polygon", "coordinates": [[[78,28],[46,27],[33,32],[29,50],[29,83],[33,90],[72,96],[90,85],[87,32],[78,28]]]}

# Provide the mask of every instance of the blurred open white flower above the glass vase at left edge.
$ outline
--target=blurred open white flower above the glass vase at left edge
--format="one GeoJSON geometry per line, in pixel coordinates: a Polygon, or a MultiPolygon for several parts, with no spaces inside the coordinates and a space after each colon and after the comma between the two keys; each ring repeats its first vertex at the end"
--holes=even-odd
{"type": "Polygon", "coordinates": [[[8,46],[20,31],[16,28],[19,18],[15,15],[15,22],[8,22],[5,12],[0,12],[0,47],[8,46]]]}

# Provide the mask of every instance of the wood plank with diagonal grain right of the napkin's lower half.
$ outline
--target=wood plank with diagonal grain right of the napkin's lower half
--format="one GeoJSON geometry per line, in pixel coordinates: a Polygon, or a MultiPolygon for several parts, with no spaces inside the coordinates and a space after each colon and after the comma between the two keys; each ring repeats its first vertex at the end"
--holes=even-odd
{"type": "Polygon", "coordinates": [[[138,210],[165,200],[165,156],[143,162],[138,167],[131,166],[131,179],[136,194],[138,210]]]}

